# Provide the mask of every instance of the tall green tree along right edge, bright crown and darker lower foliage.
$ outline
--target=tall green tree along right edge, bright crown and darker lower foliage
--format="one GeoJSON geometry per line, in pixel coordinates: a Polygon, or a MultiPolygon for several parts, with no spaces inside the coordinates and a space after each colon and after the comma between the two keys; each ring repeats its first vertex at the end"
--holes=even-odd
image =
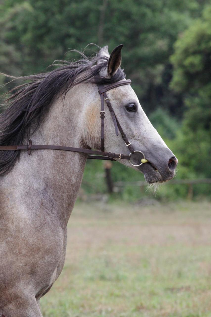
{"type": "Polygon", "coordinates": [[[186,112],[178,143],[183,166],[211,177],[211,5],[180,36],[171,57],[171,87],[185,93],[186,112]]]}

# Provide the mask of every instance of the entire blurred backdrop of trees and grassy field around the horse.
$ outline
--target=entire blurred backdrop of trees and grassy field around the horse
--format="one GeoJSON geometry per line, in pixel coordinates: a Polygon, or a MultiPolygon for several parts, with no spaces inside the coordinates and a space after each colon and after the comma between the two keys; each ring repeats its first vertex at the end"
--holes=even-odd
{"type": "Polygon", "coordinates": [[[177,177],[155,195],[141,173],[87,161],[43,316],[210,317],[211,2],[0,0],[3,73],[43,71],[89,43],[124,44],[126,78],[178,158],[177,177]]]}

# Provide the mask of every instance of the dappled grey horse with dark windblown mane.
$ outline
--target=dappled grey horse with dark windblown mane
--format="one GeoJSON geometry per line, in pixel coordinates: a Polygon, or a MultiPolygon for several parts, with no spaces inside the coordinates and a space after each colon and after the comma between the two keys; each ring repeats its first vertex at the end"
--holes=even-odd
{"type": "MultiPolygon", "coordinates": [[[[51,71],[22,77],[23,83],[10,90],[7,107],[0,115],[0,146],[22,146],[31,137],[33,144],[102,150],[103,124],[110,159],[142,172],[150,184],[173,178],[178,160],[150,123],[131,85],[128,81],[122,84],[126,79],[120,67],[121,49],[119,45],[110,55],[105,46],[90,58],[80,53],[78,61],[60,61],[51,71]],[[123,140],[125,134],[116,135],[109,107],[100,119],[103,94],[99,96],[98,88],[106,91],[109,85],[112,89],[105,99],[112,103],[115,117],[130,139],[128,144],[123,140]],[[112,156],[112,152],[125,156],[112,156]],[[137,157],[140,153],[145,155],[144,164],[139,164],[143,159],[137,157]],[[129,156],[133,160],[124,159],[129,156]]],[[[64,266],[67,222],[88,155],[86,151],[32,148],[0,151],[3,317],[42,316],[40,298],[64,266]]]]}

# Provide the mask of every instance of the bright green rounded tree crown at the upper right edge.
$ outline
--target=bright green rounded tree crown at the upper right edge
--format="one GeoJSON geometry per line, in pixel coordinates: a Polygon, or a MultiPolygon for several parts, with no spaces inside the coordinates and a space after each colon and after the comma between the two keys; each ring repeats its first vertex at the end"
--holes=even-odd
{"type": "Polygon", "coordinates": [[[211,5],[196,19],[175,43],[171,56],[174,65],[171,87],[177,91],[195,92],[210,83],[211,5]]]}

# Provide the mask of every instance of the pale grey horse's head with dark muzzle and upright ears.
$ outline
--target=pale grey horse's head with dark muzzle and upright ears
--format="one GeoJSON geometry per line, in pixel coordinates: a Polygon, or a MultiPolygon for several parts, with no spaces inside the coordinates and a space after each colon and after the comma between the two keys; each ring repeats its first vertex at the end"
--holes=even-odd
{"type": "MultiPolygon", "coordinates": [[[[112,77],[117,74],[121,65],[122,46],[123,45],[117,46],[111,55],[109,55],[107,46],[99,51],[98,65],[101,64],[102,66],[99,72],[101,78],[112,79],[112,77]],[[105,63],[105,59],[108,60],[107,63],[105,63]]],[[[125,79],[123,79],[123,81],[124,80],[125,79]]],[[[127,147],[128,144],[126,146],[121,134],[119,133],[118,136],[115,134],[112,116],[109,114],[109,109],[106,106],[105,151],[125,153],[127,155],[131,154],[130,160],[117,160],[128,167],[141,171],[144,174],[145,180],[150,184],[162,183],[173,178],[178,160],[150,123],[131,85],[115,87],[106,94],[135,152],[131,154],[127,147]],[[144,164],[141,164],[143,153],[146,160],[142,160],[144,164]]],[[[95,100],[94,108],[99,110],[99,94],[97,88],[94,91],[92,100],[95,100]]],[[[90,111],[92,112],[93,110],[90,111]]],[[[89,125],[88,130],[89,133],[87,135],[94,135],[94,138],[89,138],[90,143],[88,145],[100,149],[99,115],[96,117],[94,124],[89,125]]]]}

